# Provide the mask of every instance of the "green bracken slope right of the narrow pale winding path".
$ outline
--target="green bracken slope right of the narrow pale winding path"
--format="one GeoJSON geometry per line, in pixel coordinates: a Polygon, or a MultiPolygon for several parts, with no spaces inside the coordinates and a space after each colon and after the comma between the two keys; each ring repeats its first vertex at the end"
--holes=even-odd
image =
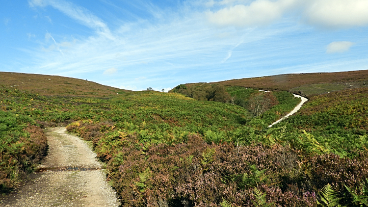
{"type": "Polygon", "coordinates": [[[294,116],[289,127],[305,129],[331,152],[349,155],[367,149],[368,89],[336,91],[314,97],[294,116]]]}

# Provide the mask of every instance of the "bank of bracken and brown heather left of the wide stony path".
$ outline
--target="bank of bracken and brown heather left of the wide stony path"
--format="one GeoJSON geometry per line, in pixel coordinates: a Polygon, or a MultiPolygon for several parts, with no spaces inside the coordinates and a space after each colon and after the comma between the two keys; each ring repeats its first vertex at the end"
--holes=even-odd
{"type": "Polygon", "coordinates": [[[43,131],[28,116],[0,111],[0,192],[17,187],[46,150],[43,131]]]}

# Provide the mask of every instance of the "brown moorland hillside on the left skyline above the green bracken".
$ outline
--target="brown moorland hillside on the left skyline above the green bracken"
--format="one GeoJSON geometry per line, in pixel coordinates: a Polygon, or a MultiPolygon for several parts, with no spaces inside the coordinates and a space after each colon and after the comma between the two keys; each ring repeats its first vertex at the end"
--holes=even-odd
{"type": "Polygon", "coordinates": [[[77,78],[7,72],[0,72],[0,86],[42,96],[110,97],[129,92],[77,78]]]}

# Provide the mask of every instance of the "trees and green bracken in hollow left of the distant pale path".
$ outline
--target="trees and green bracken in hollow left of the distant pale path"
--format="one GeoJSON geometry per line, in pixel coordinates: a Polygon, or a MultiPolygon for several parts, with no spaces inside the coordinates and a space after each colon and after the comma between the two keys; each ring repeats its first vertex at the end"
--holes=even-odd
{"type": "Polygon", "coordinates": [[[287,91],[263,92],[254,88],[210,83],[178,85],[170,92],[180,93],[198,101],[231,103],[245,108],[254,118],[251,125],[271,124],[288,114],[299,98],[287,91]]]}

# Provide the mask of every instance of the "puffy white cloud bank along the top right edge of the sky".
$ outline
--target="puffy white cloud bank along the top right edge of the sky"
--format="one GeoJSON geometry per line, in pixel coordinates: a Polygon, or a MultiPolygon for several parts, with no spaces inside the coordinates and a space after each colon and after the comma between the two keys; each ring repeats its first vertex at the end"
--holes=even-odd
{"type": "Polygon", "coordinates": [[[319,27],[346,28],[368,25],[368,0],[234,0],[208,1],[225,7],[208,11],[207,19],[218,26],[264,26],[290,13],[296,19],[319,27]],[[232,3],[238,3],[232,5],[232,3]]]}

